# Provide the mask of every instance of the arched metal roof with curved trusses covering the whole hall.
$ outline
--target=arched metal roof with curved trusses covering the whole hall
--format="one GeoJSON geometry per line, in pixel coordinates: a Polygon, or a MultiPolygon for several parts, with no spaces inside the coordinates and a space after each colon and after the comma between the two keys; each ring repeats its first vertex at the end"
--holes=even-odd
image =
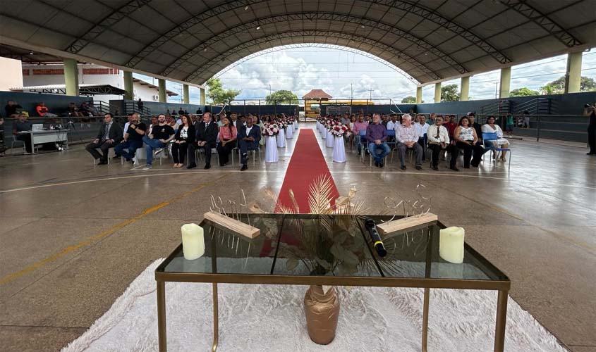
{"type": "Polygon", "coordinates": [[[320,43],[420,83],[596,46],[593,0],[0,0],[0,42],[202,84],[245,56],[320,43]]]}

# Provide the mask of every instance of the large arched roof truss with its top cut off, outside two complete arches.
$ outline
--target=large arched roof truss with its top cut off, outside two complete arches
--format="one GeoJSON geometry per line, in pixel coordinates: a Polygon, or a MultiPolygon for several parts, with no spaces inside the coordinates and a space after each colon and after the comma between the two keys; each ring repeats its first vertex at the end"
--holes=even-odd
{"type": "MultiPolygon", "coordinates": [[[[214,8],[209,8],[206,11],[203,11],[202,13],[199,13],[197,15],[190,17],[190,18],[187,18],[186,20],[183,20],[179,25],[176,25],[175,27],[171,28],[171,30],[169,30],[168,32],[162,34],[161,37],[158,37],[158,38],[152,40],[152,42],[150,44],[145,46],[145,48],[143,48],[141,51],[139,51],[138,54],[135,54],[135,56],[133,56],[133,58],[131,58],[130,61],[128,61],[128,63],[126,63],[125,65],[128,67],[131,67],[131,68],[134,67],[143,58],[149,56],[154,50],[158,49],[159,46],[162,46],[162,44],[168,42],[170,39],[173,39],[178,34],[181,34],[182,32],[188,30],[190,27],[193,27],[194,25],[201,23],[203,20],[207,20],[208,18],[211,18],[213,16],[221,15],[222,13],[225,13],[227,11],[234,11],[234,10],[238,10],[240,8],[245,8],[246,6],[250,6],[253,4],[260,4],[262,2],[267,2],[267,1],[268,0],[226,1],[226,3],[224,3],[224,4],[215,6],[214,8]]],[[[427,20],[431,20],[432,22],[437,23],[438,25],[441,25],[442,27],[445,27],[446,29],[451,30],[455,34],[467,39],[469,42],[475,44],[480,49],[485,51],[487,54],[492,56],[495,60],[499,61],[499,63],[511,62],[511,60],[509,58],[507,58],[507,56],[505,56],[503,53],[501,53],[498,49],[494,48],[494,46],[492,46],[491,44],[486,42],[484,39],[478,37],[473,32],[470,32],[470,30],[468,30],[464,27],[461,27],[460,25],[452,22],[448,18],[445,18],[442,15],[439,15],[438,13],[431,11],[430,9],[419,6],[418,4],[411,4],[407,1],[398,1],[398,0],[361,0],[361,1],[370,2],[371,5],[377,4],[377,5],[387,6],[389,8],[394,7],[394,8],[398,8],[402,11],[406,11],[409,13],[413,13],[415,15],[419,15],[420,17],[425,18],[427,20]]],[[[340,15],[340,14],[338,13],[338,15],[340,15]]],[[[255,18],[255,20],[257,20],[257,19],[260,20],[260,18],[255,18]]]]}

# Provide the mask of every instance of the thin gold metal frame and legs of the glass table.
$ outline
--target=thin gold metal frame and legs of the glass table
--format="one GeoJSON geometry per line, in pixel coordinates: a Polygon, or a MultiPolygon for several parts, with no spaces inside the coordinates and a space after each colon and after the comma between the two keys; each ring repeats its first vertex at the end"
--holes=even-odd
{"type": "MultiPolygon", "coordinates": [[[[201,224],[203,225],[203,224],[201,224]]],[[[439,225],[442,225],[439,223],[439,225]]],[[[442,226],[443,227],[443,226],[442,226]]],[[[494,265],[480,256],[468,244],[466,251],[472,253],[483,265],[500,272],[494,265]]],[[[182,250],[182,244],[172,252],[163,263],[155,270],[157,281],[157,325],[159,337],[159,351],[167,351],[166,339],[166,282],[200,282],[211,283],[213,291],[213,343],[212,351],[217,350],[219,341],[219,313],[217,284],[291,284],[291,285],[329,285],[329,286],[360,286],[360,287],[406,287],[424,289],[424,303],[422,313],[422,340],[421,348],[427,352],[428,339],[428,310],[430,289],[482,289],[496,290],[497,318],[494,332],[494,352],[503,352],[505,344],[505,325],[507,315],[507,299],[511,282],[502,275],[503,279],[439,279],[430,277],[431,251],[427,251],[427,265],[425,277],[346,277],[346,276],[301,276],[301,275],[255,275],[255,274],[227,274],[203,272],[164,272],[166,263],[169,263],[177,253],[182,250]]],[[[212,257],[212,262],[217,260],[212,257]]]]}

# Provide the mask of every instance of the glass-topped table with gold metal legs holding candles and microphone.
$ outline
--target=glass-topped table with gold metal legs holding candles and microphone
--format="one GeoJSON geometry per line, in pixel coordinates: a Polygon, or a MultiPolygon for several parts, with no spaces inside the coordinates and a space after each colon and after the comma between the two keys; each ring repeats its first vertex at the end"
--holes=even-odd
{"type": "MultiPolygon", "coordinates": [[[[186,260],[182,244],[155,270],[159,350],[166,351],[165,282],[209,282],[213,285],[214,341],[219,336],[217,284],[307,284],[424,288],[422,351],[427,345],[430,289],[499,291],[494,351],[503,351],[509,278],[464,244],[463,263],[439,256],[441,222],[381,235],[387,256],[378,256],[365,229],[387,215],[231,214],[260,229],[254,239],[210,220],[203,220],[205,254],[186,260]]],[[[399,217],[396,217],[399,218],[399,217]]]]}

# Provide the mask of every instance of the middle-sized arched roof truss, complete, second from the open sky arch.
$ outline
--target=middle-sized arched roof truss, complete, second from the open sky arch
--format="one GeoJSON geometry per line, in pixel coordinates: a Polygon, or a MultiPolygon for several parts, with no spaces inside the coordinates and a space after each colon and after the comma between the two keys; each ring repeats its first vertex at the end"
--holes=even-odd
{"type": "MultiPolygon", "coordinates": [[[[330,23],[339,22],[339,23],[353,23],[356,25],[363,25],[365,27],[374,28],[375,30],[383,30],[385,32],[390,32],[392,34],[396,34],[397,36],[407,39],[415,45],[420,46],[420,49],[426,49],[434,56],[437,56],[440,60],[444,61],[449,67],[455,68],[458,73],[467,73],[468,70],[460,65],[454,58],[451,58],[448,54],[444,53],[436,46],[425,42],[424,40],[415,37],[413,34],[409,32],[400,30],[399,28],[391,25],[389,23],[379,22],[377,20],[361,18],[358,16],[353,15],[339,15],[332,12],[307,12],[307,13],[288,13],[284,15],[272,15],[267,18],[259,18],[258,20],[250,20],[240,25],[235,25],[233,28],[226,28],[226,30],[222,30],[221,32],[217,33],[214,37],[210,37],[209,39],[201,42],[195,46],[194,49],[187,51],[186,54],[183,54],[179,58],[176,59],[173,63],[170,63],[168,67],[162,72],[162,75],[167,76],[172,71],[176,70],[180,65],[185,63],[191,58],[196,58],[197,54],[200,54],[202,51],[207,51],[209,46],[214,44],[218,44],[222,42],[226,37],[229,37],[234,34],[247,32],[249,30],[254,30],[255,27],[260,26],[263,27],[264,25],[275,25],[276,23],[291,23],[292,21],[329,21],[330,23]]],[[[290,26],[293,27],[293,26],[290,26]]],[[[225,41],[224,41],[225,42],[225,41]]]]}

